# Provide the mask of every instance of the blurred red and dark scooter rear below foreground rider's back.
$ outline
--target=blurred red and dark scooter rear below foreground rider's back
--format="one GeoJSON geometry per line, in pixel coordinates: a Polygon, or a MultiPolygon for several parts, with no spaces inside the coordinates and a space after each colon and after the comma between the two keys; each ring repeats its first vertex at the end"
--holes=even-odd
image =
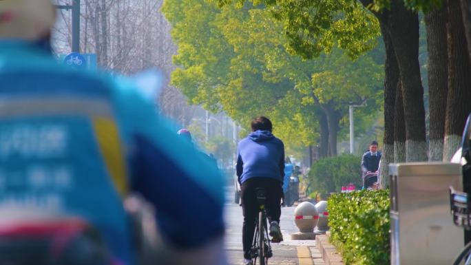
{"type": "Polygon", "coordinates": [[[113,264],[100,233],[85,220],[18,207],[0,214],[0,264],[113,264]]]}

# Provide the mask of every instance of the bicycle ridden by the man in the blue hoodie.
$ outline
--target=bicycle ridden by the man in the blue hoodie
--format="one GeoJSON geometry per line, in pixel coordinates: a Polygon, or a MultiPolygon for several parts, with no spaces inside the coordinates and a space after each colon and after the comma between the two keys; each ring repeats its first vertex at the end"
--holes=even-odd
{"type": "Polygon", "coordinates": [[[253,242],[251,247],[251,259],[253,265],[257,264],[257,259],[260,260],[260,265],[268,264],[268,259],[273,256],[271,251],[271,244],[266,226],[266,191],[265,189],[258,188],[255,190],[258,202],[258,218],[255,219],[255,233],[253,234],[253,242]]]}

